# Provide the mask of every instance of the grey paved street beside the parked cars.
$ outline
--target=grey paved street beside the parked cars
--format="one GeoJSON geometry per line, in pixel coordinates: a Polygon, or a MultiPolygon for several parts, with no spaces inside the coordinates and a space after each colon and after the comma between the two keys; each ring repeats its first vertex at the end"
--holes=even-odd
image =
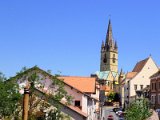
{"type": "Polygon", "coordinates": [[[107,107],[104,106],[103,112],[102,112],[102,120],[107,120],[108,115],[113,115],[114,120],[119,120],[118,116],[115,114],[115,112],[113,112],[113,108],[114,107],[107,107]]]}

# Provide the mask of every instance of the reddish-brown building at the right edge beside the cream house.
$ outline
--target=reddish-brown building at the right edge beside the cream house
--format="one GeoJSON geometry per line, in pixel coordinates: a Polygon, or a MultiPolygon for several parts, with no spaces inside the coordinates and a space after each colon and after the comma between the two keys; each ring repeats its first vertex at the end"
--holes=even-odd
{"type": "Polygon", "coordinates": [[[160,71],[153,74],[150,83],[150,103],[151,107],[160,109],[160,71]]]}

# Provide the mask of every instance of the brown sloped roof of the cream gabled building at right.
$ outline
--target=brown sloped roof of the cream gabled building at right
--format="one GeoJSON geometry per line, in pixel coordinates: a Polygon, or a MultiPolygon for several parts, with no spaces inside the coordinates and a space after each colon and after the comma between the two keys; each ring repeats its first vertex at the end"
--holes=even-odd
{"type": "Polygon", "coordinates": [[[145,66],[148,59],[149,59],[149,57],[144,59],[144,60],[141,60],[141,61],[137,62],[136,66],[134,67],[132,72],[140,72],[142,70],[142,68],[145,66]]]}

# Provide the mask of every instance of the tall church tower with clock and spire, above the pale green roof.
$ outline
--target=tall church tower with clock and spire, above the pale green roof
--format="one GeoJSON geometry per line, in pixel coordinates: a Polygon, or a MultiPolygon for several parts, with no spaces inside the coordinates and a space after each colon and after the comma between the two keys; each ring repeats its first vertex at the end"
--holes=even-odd
{"type": "Polygon", "coordinates": [[[118,46],[113,40],[112,25],[109,20],[105,43],[101,46],[100,71],[118,72],[118,46]]]}

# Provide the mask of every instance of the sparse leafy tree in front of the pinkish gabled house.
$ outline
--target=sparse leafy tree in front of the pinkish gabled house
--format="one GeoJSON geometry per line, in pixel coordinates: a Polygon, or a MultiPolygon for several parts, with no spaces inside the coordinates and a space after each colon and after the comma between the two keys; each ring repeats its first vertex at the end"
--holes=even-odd
{"type": "Polygon", "coordinates": [[[59,80],[57,75],[53,76],[35,66],[31,69],[23,68],[13,80],[20,80],[30,84],[29,120],[60,120],[68,117],[68,115],[61,112],[62,104],[60,101],[65,98],[67,105],[70,104],[72,97],[67,94],[64,89],[64,82],[59,80]],[[52,82],[47,88],[51,92],[44,91],[44,81],[46,79],[50,79],[52,82]],[[40,93],[37,94],[36,91],[38,90],[43,92],[43,96],[40,93]],[[47,116],[46,113],[48,114],[47,116]]]}

